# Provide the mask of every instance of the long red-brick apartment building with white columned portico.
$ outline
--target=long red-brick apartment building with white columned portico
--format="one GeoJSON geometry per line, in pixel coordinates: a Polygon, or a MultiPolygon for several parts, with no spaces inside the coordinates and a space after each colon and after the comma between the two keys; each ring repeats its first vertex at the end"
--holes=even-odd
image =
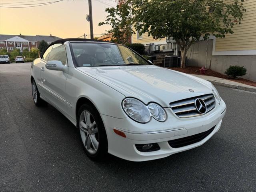
{"type": "Polygon", "coordinates": [[[58,39],[61,39],[56,36],[44,36],[44,35],[1,35],[0,34],[0,49],[6,48],[8,52],[12,52],[15,48],[20,49],[22,52],[25,48],[29,50],[32,47],[38,48],[42,40],[46,41],[47,44],[51,44],[58,39]]]}

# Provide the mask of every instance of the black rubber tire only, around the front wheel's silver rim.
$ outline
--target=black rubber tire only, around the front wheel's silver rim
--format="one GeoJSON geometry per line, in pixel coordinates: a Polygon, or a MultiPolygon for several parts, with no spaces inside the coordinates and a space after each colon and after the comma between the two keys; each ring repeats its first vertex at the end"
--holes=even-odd
{"type": "Polygon", "coordinates": [[[86,155],[89,158],[91,158],[92,160],[104,160],[108,153],[108,139],[107,139],[107,135],[106,135],[106,130],[104,128],[104,124],[103,124],[100,114],[98,113],[96,108],[90,104],[83,104],[78,110],[76,119],[77,119],[77,127],[79,129],[79,134],[80,134],[80,140],[82,142],[82,147],[83,147],[86,155]],[[95,120],[96,126],[98,128],[98,133],[97,133],[98,134],[98,149],[95,152],[95,154],[91,154],[86,149],[85,144],[82,141],[82,134],[85,134],[85,136],[86,136],[86,133],[80,131],[80,122],[79,121],[80,121],[80,116],[81,116],[82,112],[84,112],[84,111],[90,112],[90,114],[92,115],[93,119],[95,120]]]}

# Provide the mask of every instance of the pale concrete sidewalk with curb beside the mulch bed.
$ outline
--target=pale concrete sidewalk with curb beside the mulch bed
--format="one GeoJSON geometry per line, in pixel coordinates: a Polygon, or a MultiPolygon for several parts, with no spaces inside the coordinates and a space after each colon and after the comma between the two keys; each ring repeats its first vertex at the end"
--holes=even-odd
{"type": "MultiPolygon", "coordinates": [[[[194,75],[194,74],[191,74],[191,75],[194,75]]],[[[240,90],[245,90],[245,91],[250,91],[250,92],[256,92],[256,87],[254,87],[254,86],[230,81],[227,79],[206,76],[206,75],[194,75],[194,76],[202,78],[204,80],[208,80],[208,81],[212,82],[212,84],[215,84],[215,85],[226,86],[226,87],[230,87],[233,89],[240,89],[240,90]]]]}

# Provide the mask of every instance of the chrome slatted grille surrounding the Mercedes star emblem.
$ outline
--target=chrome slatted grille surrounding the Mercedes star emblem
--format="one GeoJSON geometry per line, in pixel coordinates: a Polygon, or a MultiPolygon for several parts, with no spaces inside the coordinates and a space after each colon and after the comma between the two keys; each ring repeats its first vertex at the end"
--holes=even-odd
{"type": "Polygon", "coordinates": [[[206,113],[210,112],[210,110],[212,110],[216,105],[214,95],[207,94],[172,102],[170,103],[170,107],[172,108],[172,111],[180,118],[204,115],[200,114],[196,109],[195,100],[197,98],[202,99],[206,104],[206,113]]]}

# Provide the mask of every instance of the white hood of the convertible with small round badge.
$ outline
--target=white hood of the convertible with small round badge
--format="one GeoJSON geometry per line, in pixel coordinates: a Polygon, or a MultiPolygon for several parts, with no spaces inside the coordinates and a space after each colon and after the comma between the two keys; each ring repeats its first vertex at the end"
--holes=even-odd
{"type": "Polygon", "coordinates": [[[163,107],[169,107],[170,102],[212,93],[211,83],[206,80],[154,65],[77,69],[125,97],[137,98],[145,104],[157,102],[163,107]]]}

